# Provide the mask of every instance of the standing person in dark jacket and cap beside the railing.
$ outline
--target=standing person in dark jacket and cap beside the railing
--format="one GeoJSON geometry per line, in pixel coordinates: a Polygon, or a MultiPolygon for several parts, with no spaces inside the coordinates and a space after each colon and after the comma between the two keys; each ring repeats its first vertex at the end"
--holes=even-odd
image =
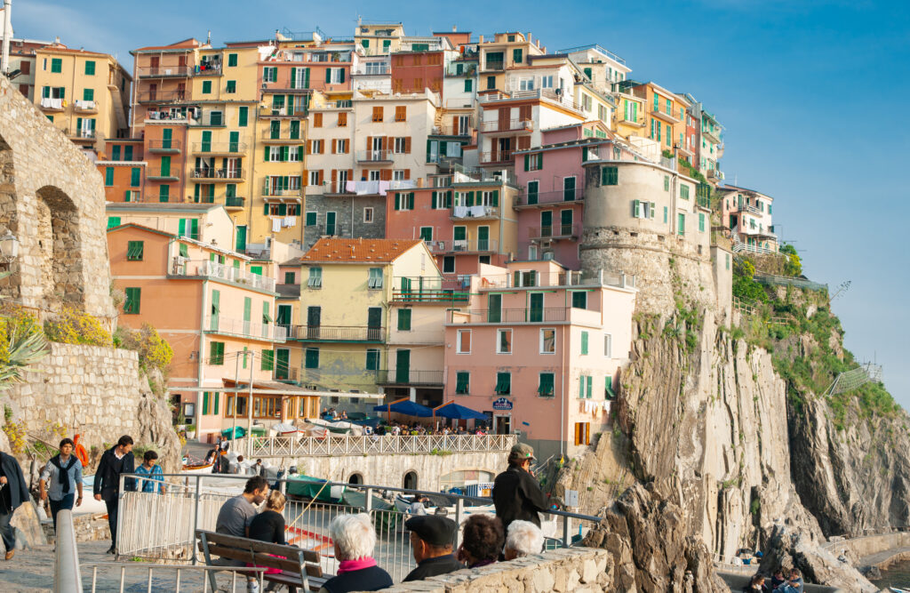
{"type": "Polygon", "coordinates": [[[547,499],[543,496],[541,485],[531,474],[531,462],[534,449],[531,445],[519,443],[509,453],[509,469],[496,476],[493,481],[493,506],[496,516],[508,530],[509,524],[516,519],[531,521],[541,527],[538,513],[547,509],[547,499]]]}

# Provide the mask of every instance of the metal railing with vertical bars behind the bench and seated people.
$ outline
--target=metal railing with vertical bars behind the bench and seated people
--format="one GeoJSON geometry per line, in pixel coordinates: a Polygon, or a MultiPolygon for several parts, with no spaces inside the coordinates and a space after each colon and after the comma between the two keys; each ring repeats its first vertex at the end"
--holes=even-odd
{"type": "MultiPolygon", "coordinates": [[[[227,498],[237,496],[248,479],[248,476],[241,475],[165,475],[169,481],[180,480],[183,483],[171,483],[167,495],[157,495],[125,492],[124,480],[127,477],[136,475],[121,476],[117,523],[118,556],[167,559],[192,565],[197,564],[200,557],[194,549],[196,531],[215,531],[221,505],[227,498]],[[203,486],[204,482],[220,484],[214,490],[212,486],[203,486]]],[[[287,486],[286,480],[278,481],[278,487],[283,492],[287,486]]],[[[409,535],[404,528],[410,515],[400,511],[394,502],[389,503],[389,497],[394,499],[394,496],[400,494],[426,495],[431,500],[448,502],[448,506],[440,509],[444,509],[459,526],[471,513],[494,512],[490,498],[343,483],[325,483],[324,491],[330,492],[333,498],[341,492],[346,493],[346,503],[288,499],[284,516],[288,544],[319,551],[322,570],[329,575],[335,574],[338,569],[329,524],[340,514],[369,514],[377,533],[374,557],[380,567],[387,570],[396,582],[400,582],[416,567],[411,555],[409,535]]],[[[600,518],[596,516],[551,511],[546,514],[542,524],[544,535],[548,538],[547,547],[571,547],[591,525],[599,521],[600,518]]],[[[453,543],[458,546],[460,533],[453,543]]]]}

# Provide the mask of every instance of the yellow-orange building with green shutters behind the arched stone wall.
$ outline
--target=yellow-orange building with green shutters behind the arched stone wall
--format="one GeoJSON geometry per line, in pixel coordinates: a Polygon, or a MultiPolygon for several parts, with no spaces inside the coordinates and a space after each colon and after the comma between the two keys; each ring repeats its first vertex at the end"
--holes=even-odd
{"type": "Polygon", "coordinates": [[[133,78],[113,56],[60,43],[35,49],[35,105],[76,144],[102,152],[129,136],[133,78]]]}

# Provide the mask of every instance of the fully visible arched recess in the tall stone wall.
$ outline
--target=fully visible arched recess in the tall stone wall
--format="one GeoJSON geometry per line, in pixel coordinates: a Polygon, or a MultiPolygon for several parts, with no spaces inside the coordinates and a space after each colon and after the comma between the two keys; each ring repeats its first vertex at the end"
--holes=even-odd
{"type": "Polygon", "coordinates": [[[79,210],[65,191],[54,186],[38,189],[35,198],[35,263],[45,302],[82,309],[86,285],[79,210]]]}

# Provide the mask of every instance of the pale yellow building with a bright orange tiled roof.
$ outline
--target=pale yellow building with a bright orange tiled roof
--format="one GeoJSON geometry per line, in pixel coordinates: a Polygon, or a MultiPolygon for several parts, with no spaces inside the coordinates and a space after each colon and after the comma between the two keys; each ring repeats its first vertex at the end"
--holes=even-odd
{"type": "MultiPolygon", "coordinates": [[[[426,340],[441,348],[441,335],[433,334],[432,323],[420,321],[422,313],[412,316],[400,298],[402,286],[411,291],[422,283],[441,285],[440,271],[424,241],[320,239],[300,264],[300,324],[294,326],[293,339],[300,343],[299,380],[305,387],[377,393],[379,382],[388,383],[383,379],[389,369],[409,373],[412,348],[404,347],[409,342],[399,334],[412,327],[420,327],[421,335],[429,331],[426,340]],[[415,321],[420,325],[412,325],[415,321]],[[402,347],[396,348],[396,360],[390,362],[393,335],[402,347]]],[[[437,327],[443,322],[441,308],[439,312],[437,327]]],[[[413,360],[430,365],[430,360],[416,355],[413,360]]],[[[395,384],[410,385],[403,381],[404,374],[399,376],[402,382],[395,384]]]]}

